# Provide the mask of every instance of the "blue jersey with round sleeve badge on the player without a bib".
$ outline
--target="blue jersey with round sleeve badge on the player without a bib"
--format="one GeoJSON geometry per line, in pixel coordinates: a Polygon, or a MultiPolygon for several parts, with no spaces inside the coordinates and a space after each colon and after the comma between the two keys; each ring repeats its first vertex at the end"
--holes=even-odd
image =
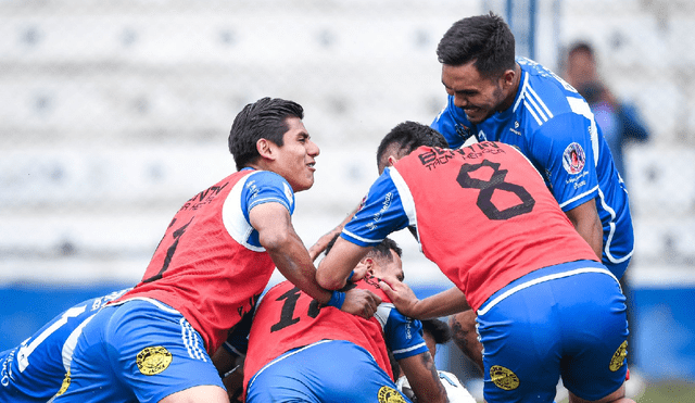
{"type": "Polygon", "coordinates": [[[518,148],[545,179],[563,211],[592,199],[604,228],[603,262],[621,277],[634,236],[628,192],[586,101],[542,65],[517,58],[521,79],[513,106],[471,124],[450,96],[432,123],[452,148],[472,136],[518,148]]]}

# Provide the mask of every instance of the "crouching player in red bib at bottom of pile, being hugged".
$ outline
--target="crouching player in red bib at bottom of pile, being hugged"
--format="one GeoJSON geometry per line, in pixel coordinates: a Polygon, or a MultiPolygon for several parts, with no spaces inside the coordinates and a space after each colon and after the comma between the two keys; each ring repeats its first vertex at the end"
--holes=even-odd
{"type": "Polygon", "coordinates": [[[383,276],[403,279],[401,249],[386,238],[366,252],[353,265],[353,278],[364,278],[348,287],[384,300],[371,319],[323,306],[288,281],[262,298],[244,364],[247,402],[406,402],[387,345],[419,402],[446,402],[420,323],[386,303],[377,285],[383,276]]]}

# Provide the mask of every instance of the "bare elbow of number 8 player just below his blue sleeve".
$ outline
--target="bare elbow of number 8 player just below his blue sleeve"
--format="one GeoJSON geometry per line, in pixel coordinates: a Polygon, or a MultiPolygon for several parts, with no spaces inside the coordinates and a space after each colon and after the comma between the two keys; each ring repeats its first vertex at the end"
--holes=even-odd
{"type": "Polygon", "coordinates": [[[369,252],[370,248],[361,247],[339,237],[328,255],[318,264],[316,280],[321,287],[329,290],[339,290],[345,287],[350,273],[369,252]]]}

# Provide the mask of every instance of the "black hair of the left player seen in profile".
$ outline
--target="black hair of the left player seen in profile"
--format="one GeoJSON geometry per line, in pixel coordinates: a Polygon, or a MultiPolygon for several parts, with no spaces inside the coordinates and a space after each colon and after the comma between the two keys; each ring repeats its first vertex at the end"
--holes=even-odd
{"type": "Polygon", "coordinates": [[[237,114],[229,130],[228,144],[238,171],[261,156],[256,149],[260,139],[282,147],[282,138],[289,129],[288,117],[304,118],[304,109],[296,102],[268,97],[249,103],[237,114]]]}

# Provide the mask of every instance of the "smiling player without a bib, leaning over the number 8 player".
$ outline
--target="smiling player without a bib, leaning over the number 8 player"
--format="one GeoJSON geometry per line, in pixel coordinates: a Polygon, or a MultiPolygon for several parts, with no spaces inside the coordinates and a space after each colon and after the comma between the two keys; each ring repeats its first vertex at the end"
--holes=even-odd
{"type": "MultiPolygon", "coordinates": [[[[451,148],[467,139],[516,147],[541,173],[577,231],[620,279],[632,256],[630,204],[586,101],[555,73],[515,59],[515,38],[497,15],[463,18],[437,48],[446,106],[431,126],[451,148]]],[[[479,366],[475,313],[451,318],[454,340],[479,366]]]]}

